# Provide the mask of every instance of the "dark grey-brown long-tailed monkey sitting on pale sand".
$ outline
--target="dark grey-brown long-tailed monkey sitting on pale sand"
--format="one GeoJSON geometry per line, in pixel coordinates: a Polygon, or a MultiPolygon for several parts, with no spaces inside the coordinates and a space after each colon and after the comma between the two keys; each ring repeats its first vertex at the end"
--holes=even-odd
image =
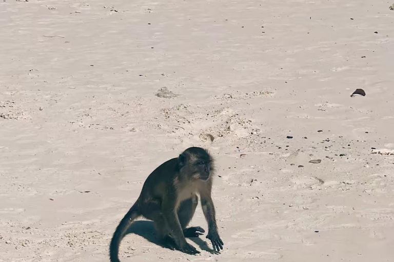
{"type": "Polygon", "coordinates": [[[201,147],[189,147],[179,155],[154,169],[146,178],[141,193],[113,233],[109,246],[111,262],[120,262],[118,253],[122,238],[132,222],[140,216],[153,221],[163,246],[196,255],[200,251],[186,242],[186,237],[205,233],[201,227],[187,227],[198,205],[208,224],[206,238],[213,250],[223,250],[211,198],[214,159],[201,147]]]}

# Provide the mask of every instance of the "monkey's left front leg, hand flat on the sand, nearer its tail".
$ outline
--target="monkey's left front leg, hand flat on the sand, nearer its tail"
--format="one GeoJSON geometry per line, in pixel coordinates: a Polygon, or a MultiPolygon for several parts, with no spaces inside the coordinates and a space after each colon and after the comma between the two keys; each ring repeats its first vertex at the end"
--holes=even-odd
{"type": "Polygon", "coordinates": [[[162,212],[164,219],[166,220],[170,236],[175,242],[176,248],[178,250],[190,255],[199,254],[200,251],[196,250],[193,246],[186,242],[186,238],[183,234],[174,203],[175,201],[164,201],[162,207],[162,212]]]}

